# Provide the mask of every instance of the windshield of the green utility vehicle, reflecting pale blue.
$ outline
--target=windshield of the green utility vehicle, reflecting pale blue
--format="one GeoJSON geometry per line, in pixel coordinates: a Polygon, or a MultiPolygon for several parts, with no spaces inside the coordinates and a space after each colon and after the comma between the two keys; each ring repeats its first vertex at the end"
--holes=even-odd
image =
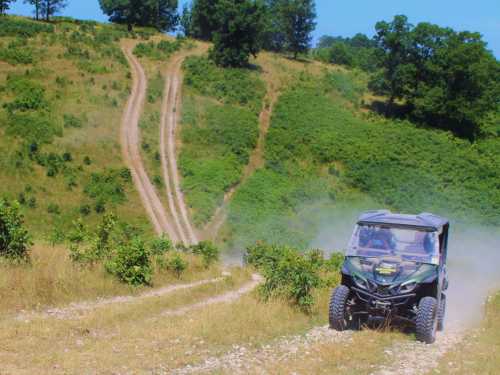
{"type": "Polygon", "coordinates": [[[357,225],[348,256],[399,256],[404,260],[439,264],[437,232],[381,225],[357,225]]]}

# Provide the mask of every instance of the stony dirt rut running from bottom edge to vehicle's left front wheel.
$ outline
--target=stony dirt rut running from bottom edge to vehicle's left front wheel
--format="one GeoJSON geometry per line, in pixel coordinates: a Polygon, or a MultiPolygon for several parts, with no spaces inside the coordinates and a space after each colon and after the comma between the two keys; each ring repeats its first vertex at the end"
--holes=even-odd
{"type": "Polygon", "coordinates": [[[352,332],[337,332],[325,327],[316,327],[305,335],[282,337],[260,348],[235,347],[221,357],[211,357],[199,365],[186,366],[172,371],[176,375],[229,373],[267,374],[270,364],[286,363],[307,352],[314,344],[349,342],[352,332]]]}

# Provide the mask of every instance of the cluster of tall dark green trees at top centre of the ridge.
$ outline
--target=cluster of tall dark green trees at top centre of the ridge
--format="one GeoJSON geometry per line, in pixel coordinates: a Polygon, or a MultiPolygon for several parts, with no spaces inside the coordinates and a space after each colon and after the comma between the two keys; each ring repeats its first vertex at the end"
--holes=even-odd
{"type": "Polygon", "coordinates": [[[309,51],[316,27],[313,0],[194,0],[184,6],[186,36],[214,42],[221,66],[245,66],[261,47],[298,54],[309,51]]]}

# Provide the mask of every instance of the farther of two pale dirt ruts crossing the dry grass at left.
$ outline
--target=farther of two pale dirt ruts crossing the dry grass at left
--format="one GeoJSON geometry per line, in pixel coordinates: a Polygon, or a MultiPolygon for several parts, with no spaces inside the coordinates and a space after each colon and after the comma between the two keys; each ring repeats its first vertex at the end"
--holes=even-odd
{"type": "Polygon", "coordinates": [[[44,312],[30,312],[30,313],[19,314],[16,316],[16,319],[17,320],[26,320],[33,318],[72,319],[75,317],[80,317],[82,313],[88,311],[94,311],[98,308],[109,305],[136,303],[136,302],[141,302],[142,300],[147,298],[163,297],[167,294],[171,294],[179,290],[192,289],[207,284],[215,284],[224,281],[224,278],[229,276],[231,276],[229,273],[224,273],[222,277],[217,277],[213,279],[199,280],[188,284],[168,285],[166,287],[151,290],[149,292],[142,293],[137,296],[117,296],[111,298],[102,298],[97,301],[72,303],[68,307],[64,308],[53,308],[46,310],[44,312]]]}

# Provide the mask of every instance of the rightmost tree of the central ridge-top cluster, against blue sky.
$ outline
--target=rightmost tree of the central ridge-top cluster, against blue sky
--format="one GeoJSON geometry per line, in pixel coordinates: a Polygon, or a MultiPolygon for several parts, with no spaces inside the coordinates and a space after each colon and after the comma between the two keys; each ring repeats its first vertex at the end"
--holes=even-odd
{"type": "Polygon", "coordinates": [[[279,17],[286,49],[296,59],[311,46],[311,34],[316,28],[314,0],[283,0],[279,5],[279,17]]]}

